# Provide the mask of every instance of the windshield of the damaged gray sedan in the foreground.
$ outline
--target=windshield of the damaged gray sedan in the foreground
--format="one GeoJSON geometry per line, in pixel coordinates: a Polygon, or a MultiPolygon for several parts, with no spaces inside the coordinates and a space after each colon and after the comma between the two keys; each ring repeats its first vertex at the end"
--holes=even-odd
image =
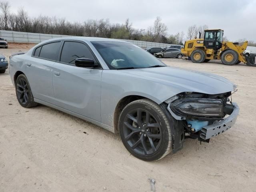
{"type": "Polygon", "coordinates": [[[91,42],[110,69],[166,66],[149,52],[125,42],[91,42]]]}

